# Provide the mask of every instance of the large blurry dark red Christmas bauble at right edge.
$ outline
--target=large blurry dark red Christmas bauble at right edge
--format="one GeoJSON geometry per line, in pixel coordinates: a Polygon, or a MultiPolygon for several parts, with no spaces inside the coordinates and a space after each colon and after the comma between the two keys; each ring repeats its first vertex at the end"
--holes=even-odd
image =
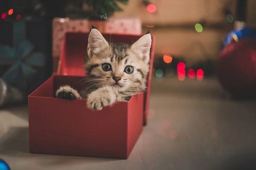
{"type": "Polygon", "coordinates": [[[217,60],[217,75],[232,96],[256,96],[256,40],[243,39],[225,47],[217,60]]]}

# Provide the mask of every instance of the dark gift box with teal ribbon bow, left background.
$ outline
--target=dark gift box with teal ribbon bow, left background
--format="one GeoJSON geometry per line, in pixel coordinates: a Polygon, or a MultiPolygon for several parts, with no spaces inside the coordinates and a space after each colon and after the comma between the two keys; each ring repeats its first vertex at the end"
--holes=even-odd
{"type": "Polygon", "coordinates": [[[1,22],[0,77],[26,94],[49,77],[46,64],[50,39],[44,25],[44,22],[24,20],[1,22]]]}

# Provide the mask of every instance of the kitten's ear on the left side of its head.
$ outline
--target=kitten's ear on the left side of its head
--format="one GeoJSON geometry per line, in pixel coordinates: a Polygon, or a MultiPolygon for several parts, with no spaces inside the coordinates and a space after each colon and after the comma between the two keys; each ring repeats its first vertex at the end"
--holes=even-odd
{"type": "Polygon", "coordinates": [[[93,54],[99,54],[105,48],[108,48],[108,42],[102,36],[97,28],[92,26],[88,38],[87,54],[88,57],[92,57],[93,54]]]}

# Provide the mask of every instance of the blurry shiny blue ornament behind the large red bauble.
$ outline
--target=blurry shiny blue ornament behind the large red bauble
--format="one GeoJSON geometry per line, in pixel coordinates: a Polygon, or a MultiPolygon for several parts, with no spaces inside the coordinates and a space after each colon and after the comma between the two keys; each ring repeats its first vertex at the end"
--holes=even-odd
{"type": "Polygon", "coordinates": [[[250,28],[250,27],[244,27],[244,28],[241,28],[240,30],[231,31],[227,35],[227,37],[224,39],[224,42],[221,45],[221,50],[225,46],[229,45],[233,40],[238,41],[239,39],[244,39],[244,38],[256,40],[256,29],[250,28]]]}

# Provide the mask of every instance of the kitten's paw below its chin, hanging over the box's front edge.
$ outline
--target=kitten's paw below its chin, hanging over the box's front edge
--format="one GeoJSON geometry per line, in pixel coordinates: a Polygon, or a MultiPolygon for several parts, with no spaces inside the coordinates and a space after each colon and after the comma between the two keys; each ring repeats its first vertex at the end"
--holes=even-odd
{"type": "Polygon", "coordinates": [[[113,102],[115,102],[113,94],[94,91],[87,97],[87,108],[100,111],[103,107],[113,104],[113,102]]]}

